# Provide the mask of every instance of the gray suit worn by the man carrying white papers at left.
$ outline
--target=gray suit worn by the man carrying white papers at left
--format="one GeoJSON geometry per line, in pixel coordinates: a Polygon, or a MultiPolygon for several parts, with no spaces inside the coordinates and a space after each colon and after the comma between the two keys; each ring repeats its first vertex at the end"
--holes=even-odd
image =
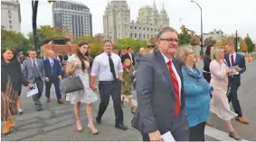
{"type": "Polygon", "coordinates": [[[23,73],[27,81],[31,84],[36,84],[38,87],[38,93],[33,95],[33,102],[37,110],[41,110],[40,98],[43,93],[43,81],[45,78],[43,60],[36,58],[36,67],[39,71],[39,77],[35,78],[33,71],[33,61],[31,59],[26,59],[23,64],[23,73]]]}

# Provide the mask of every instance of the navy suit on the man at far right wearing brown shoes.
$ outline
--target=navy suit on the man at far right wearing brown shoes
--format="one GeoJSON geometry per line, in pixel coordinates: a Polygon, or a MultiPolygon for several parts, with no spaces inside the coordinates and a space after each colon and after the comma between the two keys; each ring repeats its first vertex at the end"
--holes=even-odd
{"type": "MultiPolygon", "coordinates": [[[[232,61],[229,58],[229,54],[225,55],[225,60],[227,61],[228,67],[232,67],[232,61]]],[[[241,84],[241,74],[246,71],[245,60],[241,54],[236,53],[233,66],[239,66],[242,70],[239,72],[239,75],[233,75],[229,77],[231,82],[231,92],[229,94],[229,102],[232,102],[232,108],[235,113],[238,114],[238,117],[242,117],[242,110],[240,102],[237,98],[237,90],[241,84]]]]}

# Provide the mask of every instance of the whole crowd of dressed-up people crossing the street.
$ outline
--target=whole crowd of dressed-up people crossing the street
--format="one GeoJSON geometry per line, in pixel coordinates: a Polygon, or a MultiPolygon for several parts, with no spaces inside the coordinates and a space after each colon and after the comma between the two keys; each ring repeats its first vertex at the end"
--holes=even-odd
{"type": "MultiPolygon", "coordinates": [[[[176,141],[204,141],[204,128],[210,111],[225,121],[231,138],[241,139],[232,128],[231,120],[248,124],[242,117],[237,90],[241,74],[245,72],[242,55],[234,51],[233,43],[225,47],[207,47],[204,70],[195,65],[196,58],[191,46],[178,46],[175,29],[166,27],[159,31],[157,50],[147,55],[140,48],[137,55],[128,52],[112,52],[111,40],[104,41],[104,52],[90,58],[90,45],[81,42],[76,53],[60,58],[49,50],[47,58],[36,58],[29,51],[29,58],[22,67],[12,49],[2,51],[1,65],[1,114],[4,134],[11,132],[15,123],[13,115],[22,114],[21,86],[36,84],[38,93],[33,95],[36,111],[42,111],[40,99],[45,85],[45,97],[51,102],[50,89],[55,87],[57,102],[62,104],[60,82],[69,75],[79,76],[83,89],[65,94],[65,100],[74,105],[76,129],[82,131],[81,103],[86,103],[88,128],[92,135],[99,130],[94,125],[92,104],[100,98],[96,122],[100,123],[113,100],[115,128],[127,130],[123,123],[124,100],[128,98],[130,111],[134,114],[132,127],[140,131],[143,141],[163,140],[161,135],[170,131],[176,141]],[[226,51],[226,54],[224,54],[226,51]],[[99,83],[98,83],[99,82],[99,83]],[[100,96],[95,92],[99,90],[100,96]],[[137,94],[137,108],[132,103],[133,90],[137,94]],[[234,112],[229,102],[232,102],[234,112]]],[[[19,59],[21,60],[21,59],[19,59]]]]}

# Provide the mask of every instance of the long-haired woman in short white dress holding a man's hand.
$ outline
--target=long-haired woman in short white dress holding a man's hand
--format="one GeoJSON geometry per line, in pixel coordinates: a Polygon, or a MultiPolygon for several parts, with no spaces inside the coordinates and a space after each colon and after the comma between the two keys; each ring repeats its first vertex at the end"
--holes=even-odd
{"type": "Polygon", "coordinates": [[[72,55],[66,65],[67,75],[79,75],[84,89],[66,94],[66,101],[74,104],[74,111],[76,116],[76,127],[78,131],[82,130],[80,110],[81,102],[86,103],[86,113],[88,118],[88,128],[90,132],[95,135],[98,130],[94,127],[92,103],[96,102],[99,97],[97,93],[90,89],[90,60],[84,55],[89,51],[89,45],[86,42],[81,42],[76,49],[76,54],[72,55]]]}

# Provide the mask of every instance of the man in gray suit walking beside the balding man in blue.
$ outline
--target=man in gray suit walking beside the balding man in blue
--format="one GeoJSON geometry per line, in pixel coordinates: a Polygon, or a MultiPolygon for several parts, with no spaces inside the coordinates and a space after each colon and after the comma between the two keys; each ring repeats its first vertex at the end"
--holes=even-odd
{"type": "Polygon", "coordinates": [[[33,95],[33,102],[37,111],[42,111],[40,98],[43,93],[43,80],[45,78],[43,60],[36,58],[34,50],[29,51],[29,59],[26,59],[23,64],[23,73],[27,81],[31,84],[36,84],[38,93],[33,95]]]}

